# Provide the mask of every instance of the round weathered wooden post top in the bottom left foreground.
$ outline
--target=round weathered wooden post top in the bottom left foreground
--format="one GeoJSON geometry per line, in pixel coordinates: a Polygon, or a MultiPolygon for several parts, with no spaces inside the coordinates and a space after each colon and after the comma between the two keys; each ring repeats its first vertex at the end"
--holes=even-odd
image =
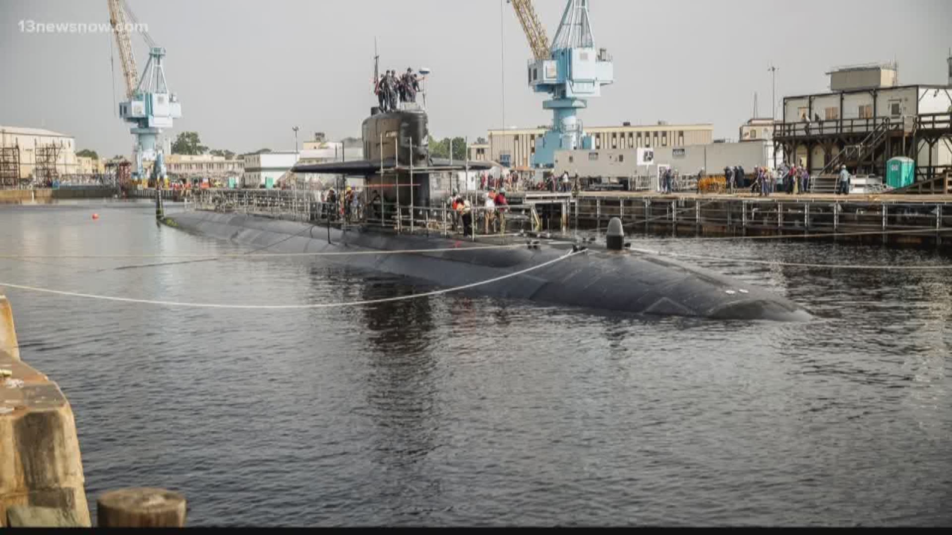
{"type": "Polygon", "coordinates": [[[164,488],[120,488],[96,501],[100,527],[183,527],[185,497],[164,488]]]}

